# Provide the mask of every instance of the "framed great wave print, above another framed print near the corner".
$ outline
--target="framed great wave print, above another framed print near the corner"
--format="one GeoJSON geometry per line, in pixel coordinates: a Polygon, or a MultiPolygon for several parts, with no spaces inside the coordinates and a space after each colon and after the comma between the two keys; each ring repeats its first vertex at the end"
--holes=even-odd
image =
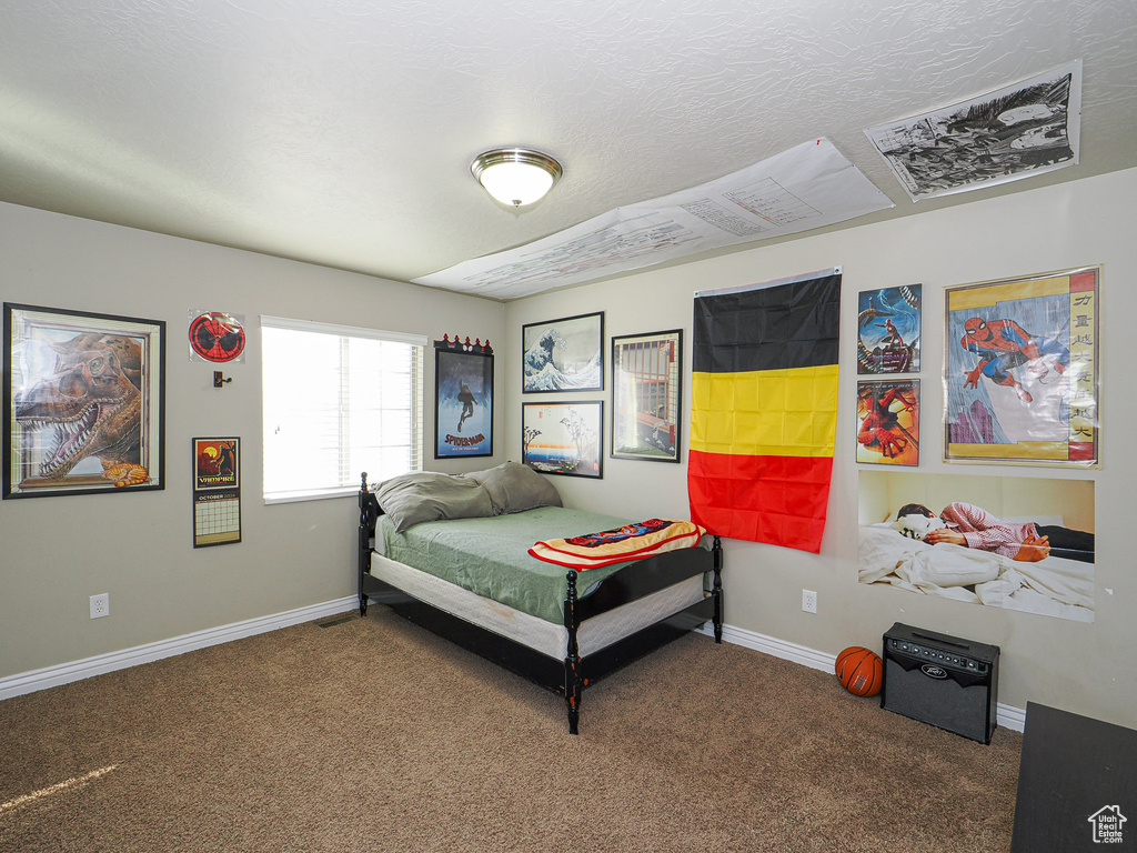
{"type": "Polygon", "coordinates": [[[604,390],[604,312],[521,328],[522,394],[604,390]]]}

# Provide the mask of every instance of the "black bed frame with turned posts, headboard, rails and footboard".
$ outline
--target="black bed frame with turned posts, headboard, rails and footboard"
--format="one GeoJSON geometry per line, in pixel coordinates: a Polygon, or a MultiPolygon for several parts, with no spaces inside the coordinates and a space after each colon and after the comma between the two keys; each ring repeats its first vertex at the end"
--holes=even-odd
{"type": "Polygon", "coordinates": [[[383,511],[375,495],[367,489],[366,473],[362,475],[358,503],[359,615],[367,614],[367,603],[374,599],[415,624],[564,696],[568,712],[568,732],[572,735],[578,731],[581,694],[586,687],[706,622],[714,624],[715,643],[722,643],[722,543],[717,536],[714,537],[709,552],[704,548],[684,548],[638,561],[634,572],[612,574],[587,596],[578,593],[576,572],[571,570],[566,575],[568,589],[564,602],[564,624],[568,631],[568,643],[564,661],[561,662],[372,577],[371,555],[374,552],[375,527],[383,511]],[[702,601],[587,657],[580,656],[576,635],[586,620],[706,572],[713,573],[712,589],[702,601]]]}

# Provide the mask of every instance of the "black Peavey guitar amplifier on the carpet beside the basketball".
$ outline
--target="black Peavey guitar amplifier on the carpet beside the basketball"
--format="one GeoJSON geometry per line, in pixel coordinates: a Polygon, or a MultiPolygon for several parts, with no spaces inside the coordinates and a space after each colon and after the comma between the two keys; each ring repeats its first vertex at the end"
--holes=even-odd
{"type": "Polygon", "coordinates": [[[998,646],[897,622],[885,635],[880,706],[984,744],[998,704],[998,646]]]}

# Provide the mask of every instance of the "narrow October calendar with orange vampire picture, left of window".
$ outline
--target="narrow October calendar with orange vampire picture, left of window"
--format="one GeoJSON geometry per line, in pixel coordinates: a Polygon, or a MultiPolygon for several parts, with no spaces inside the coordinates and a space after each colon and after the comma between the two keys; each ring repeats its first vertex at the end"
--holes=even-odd
{"type": "Polygon", "coordinates": [[[193,439],[193,547],[241,541],[241,439],[193,439]]]}

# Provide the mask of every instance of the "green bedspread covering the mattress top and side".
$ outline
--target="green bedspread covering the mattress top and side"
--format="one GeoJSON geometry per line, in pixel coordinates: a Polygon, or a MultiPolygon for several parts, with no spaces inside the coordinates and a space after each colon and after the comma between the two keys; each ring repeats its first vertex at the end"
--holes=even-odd
{"type": "MultiPolygon", "coordinates": [[[[491,519],[454,519],[415,524],[402,533],[385,515],[385,555],[457,583],[480,596],[548,622],[564,620],[567,570],[529,556],[541,539],[583,536],[630,523],[630,519],[547,506],[491,519]]],[[[707,538],[700,547],[707,548],[707,538]]],[[[599,581],[631,563],[582,572],[578,591],[587,595],[599,581]]]]}

